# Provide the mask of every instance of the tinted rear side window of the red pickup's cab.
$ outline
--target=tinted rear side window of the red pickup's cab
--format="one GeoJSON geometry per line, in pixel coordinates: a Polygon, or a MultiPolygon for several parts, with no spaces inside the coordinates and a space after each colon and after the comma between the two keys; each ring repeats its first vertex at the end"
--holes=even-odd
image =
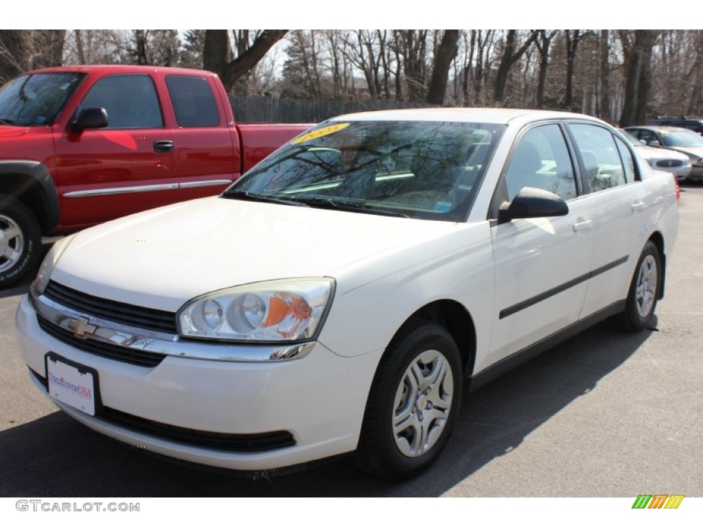
{"type": "Polygon", "coordinates": [[[166,77],[166,85],[179,126],[195,128],[219,124],[217,103],[207,79],[169,75],[166,77]]]}

